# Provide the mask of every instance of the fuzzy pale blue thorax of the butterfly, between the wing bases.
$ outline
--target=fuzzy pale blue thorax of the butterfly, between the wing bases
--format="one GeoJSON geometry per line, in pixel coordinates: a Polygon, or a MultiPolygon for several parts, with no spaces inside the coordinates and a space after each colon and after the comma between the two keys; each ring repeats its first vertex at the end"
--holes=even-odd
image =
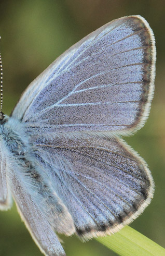
{"type": "Polygon", "coordinates": [[[18,172],[22,169],[22,173],[29,173],[36,183],[43,182],[42,175],[37,172],[36,163],[33,161],[34,150],[21,122],[6,116],[0,124],[0,138],[10,157],[19,165],[18,172]]]}

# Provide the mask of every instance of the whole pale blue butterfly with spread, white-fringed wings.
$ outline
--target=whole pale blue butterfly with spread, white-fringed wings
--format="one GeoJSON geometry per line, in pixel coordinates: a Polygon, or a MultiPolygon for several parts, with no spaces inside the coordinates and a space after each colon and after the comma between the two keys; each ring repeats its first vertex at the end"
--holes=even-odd
{"type": "Polygon", "coordinates": [[[153,198],[147,164],[121,135],[148,117],[155,62],[147,21],[119,18],[57,58],[9,117],[1,112],[0,208],[15,200],[45,255],[65,255],[56,232],[114,234],[153,198]]]}

